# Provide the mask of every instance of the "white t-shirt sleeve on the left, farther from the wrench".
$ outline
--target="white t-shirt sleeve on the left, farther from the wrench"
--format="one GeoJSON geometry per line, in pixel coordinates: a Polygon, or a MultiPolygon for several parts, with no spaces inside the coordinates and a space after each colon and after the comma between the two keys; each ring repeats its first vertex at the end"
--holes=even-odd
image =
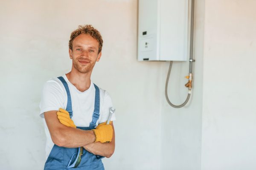
{"type": "Polygon", "coordinates": [[[44,112],[58,111],[64,108],[64,91],[55,80],[49,80],[44,84],[40,102],[40,116],[44,118],[44,112]]]}

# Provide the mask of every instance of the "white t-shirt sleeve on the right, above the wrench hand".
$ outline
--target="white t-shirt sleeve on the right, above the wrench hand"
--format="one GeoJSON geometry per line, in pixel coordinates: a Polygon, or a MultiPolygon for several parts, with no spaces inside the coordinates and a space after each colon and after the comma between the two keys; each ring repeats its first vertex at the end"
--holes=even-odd
{"type": "MultiPolygon", "coordinates": [[[[109,116],[109,109],[113,107],[113,103],[112,103],[112,99],[111,96],[108,94],[107,91],[105,91],[105,95],[104,95],[104,105],[103,105],[103,109],[102,109],[102,117],[99,120],[99,123],[103,123],[106,122],[108,120],[108,116],[109,116]]],[[[114,108],[114,107],[113,107],[114,108]]],[[[111,117],[111,121],[116,120],[116,114],[113,113],[112,117],[111,117]]]]}

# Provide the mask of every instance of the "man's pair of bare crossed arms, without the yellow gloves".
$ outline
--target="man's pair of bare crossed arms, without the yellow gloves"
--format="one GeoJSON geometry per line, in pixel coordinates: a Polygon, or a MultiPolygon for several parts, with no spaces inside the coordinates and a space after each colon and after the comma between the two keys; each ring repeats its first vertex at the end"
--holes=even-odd
{"type": "Polygon", "coordinates": [[[115,149],[115,133],[113,123],[113,138],[109,143],[94,142],[93,130],[81,130],[67,127],[57,117],[57,111],[47,111],[44,118],[49,129],[52,142],[60,147],[84,147],[90,153],[109,158],[115,149]]]}

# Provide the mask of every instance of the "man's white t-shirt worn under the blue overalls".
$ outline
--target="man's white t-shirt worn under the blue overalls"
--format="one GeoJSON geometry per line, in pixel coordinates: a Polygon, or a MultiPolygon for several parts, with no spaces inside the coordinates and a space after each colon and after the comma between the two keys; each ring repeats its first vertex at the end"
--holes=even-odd
{"type": "MultiPolygon", "coordinates": [[[[94,99],[95,99],[95,87],[93,82],[90,84],[90,88],[86,91],[81,92],[69,82],[66,75],[62,76],[69,87],[70,96],[72,101],[73,117],[72,120],[76,126],[89,127],[92,122],[92,115],[94,111],[94,99]]],[[[99,119],[96,125],[102,122],[106,122],[109,116],[109,108],[113,107],[111,97],[108,92],[99,88],[100,94],[100,108],[99,108],[99,119]]],[[[67,107],[67,92],[64,85],[58,78],[49,79],[45,84],[42,92],[40,102],[40,116],[44,118],[44,112],[47,111],[58,111],[59,108],[66,109],[67,107]]],[[[112,121],[116,120],[115,113],[113,113],[112,121]]],[[[52,150],[54,143],[50,136],[47,124],[44,119],[44,129],[46,133],[46,159],[52,150]]]]}

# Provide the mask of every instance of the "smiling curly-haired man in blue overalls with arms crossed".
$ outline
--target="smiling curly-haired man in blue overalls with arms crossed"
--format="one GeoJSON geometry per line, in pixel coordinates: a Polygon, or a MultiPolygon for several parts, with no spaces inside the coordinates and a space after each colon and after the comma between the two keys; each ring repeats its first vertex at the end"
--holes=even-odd
{"type": "Polygon", "coordinates": [[[40,103],[47,136],[44,170],[104,170],[101,159],[114,152],[115,114],[106,125],[111,97],[90,80],[102,43],[95,28],[79,26],[69,41],[71,71],[44,85],[40,103]]]}

